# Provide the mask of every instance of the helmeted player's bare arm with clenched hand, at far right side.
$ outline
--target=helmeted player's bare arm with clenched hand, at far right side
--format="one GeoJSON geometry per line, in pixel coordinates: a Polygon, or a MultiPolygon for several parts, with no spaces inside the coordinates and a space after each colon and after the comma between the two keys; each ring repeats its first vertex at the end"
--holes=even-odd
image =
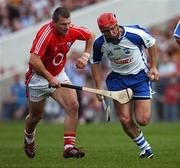
{"type": "Polygon", "coordinates": [[[149,77],[151,80],[159,80],[159,73],[157,70],[157,48],[155,44],[148,48],[148,53],[150,59],[149,77]]]}

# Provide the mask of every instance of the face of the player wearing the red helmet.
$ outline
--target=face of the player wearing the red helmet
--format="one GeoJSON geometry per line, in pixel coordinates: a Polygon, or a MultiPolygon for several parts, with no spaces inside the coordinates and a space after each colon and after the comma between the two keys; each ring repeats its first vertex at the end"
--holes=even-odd
{"type": "Polygon", "coordinates": [[[116,24],[116,25],[108,27],[105,30],[102,30],[101,32],[103,33],[106,39],[118,39],[119,26],[116,24]]]}

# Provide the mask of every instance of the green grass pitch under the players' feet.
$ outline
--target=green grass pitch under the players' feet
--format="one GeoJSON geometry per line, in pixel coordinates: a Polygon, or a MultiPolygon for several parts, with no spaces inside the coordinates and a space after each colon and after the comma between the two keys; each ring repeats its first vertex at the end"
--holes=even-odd
{"type": "Polygon", "coordinates": [[[0,168],[178,168],[180,123],[151,123],[142,130],[154,150],[153,159],[139,159],[139,149],[119,123],[79,125],[78,147],[86,156],[64,159],[63,124],[40,123],[36,131],[36,156],[23,151],[22,122],[0,123],[0,168]]]}

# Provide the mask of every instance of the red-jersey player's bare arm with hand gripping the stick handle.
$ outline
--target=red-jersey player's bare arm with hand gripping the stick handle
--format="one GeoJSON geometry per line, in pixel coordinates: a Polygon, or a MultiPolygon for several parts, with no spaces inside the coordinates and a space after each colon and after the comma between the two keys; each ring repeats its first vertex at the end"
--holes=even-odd
{"type": "Polygon", "coordinates": [[[53,77],[44,67],[40,56],[32,53],[30,58],[30,64],[33,66],[33,69],[36,71],[37,74],[43,76],[49,81],[49,84],[52,87],[60,87],[59,81],[55,77],[53,77]]]}

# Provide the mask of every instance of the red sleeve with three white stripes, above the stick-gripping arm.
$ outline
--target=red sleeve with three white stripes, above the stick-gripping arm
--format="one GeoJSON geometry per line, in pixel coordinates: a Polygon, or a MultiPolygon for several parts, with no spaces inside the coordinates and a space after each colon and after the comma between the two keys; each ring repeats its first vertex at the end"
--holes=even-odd
{"type": "Polygon", "coordinates": [[[35,53],[39,55],[40,57],[43,57],[45,54],[45,51],[47,49],[48,43],[51,38],[51,28],[50,26],[42,27],[32,44],[32,48],[30,50],[30,53],[35,53]]]}

